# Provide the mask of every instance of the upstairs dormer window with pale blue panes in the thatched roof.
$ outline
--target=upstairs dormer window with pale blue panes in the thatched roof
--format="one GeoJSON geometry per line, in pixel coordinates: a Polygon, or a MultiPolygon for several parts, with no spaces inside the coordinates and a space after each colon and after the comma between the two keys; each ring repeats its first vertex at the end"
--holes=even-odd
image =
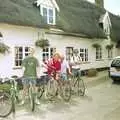
{"type": "Polygon", "coordinates": [[[54,8],[41,7],[41,15],[44,22],[47,24],[55,24],[55,10],[54,8]]]}

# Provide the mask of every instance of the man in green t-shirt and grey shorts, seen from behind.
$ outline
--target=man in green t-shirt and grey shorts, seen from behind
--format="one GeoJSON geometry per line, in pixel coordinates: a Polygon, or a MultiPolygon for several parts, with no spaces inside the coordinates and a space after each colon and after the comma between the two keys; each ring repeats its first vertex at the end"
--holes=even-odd
{"type": "MultiPolygon", "coordinates": [[[[24,104],[24,99],[25,96],[28,92],[28,87],[30,82],[33,85],[33,90],[35,92],[35,94],[37,93],[37,87],[36,87],[36,78],[37,78],[37,74],[38,74],[38,60],[34,57],[34,49],[30,48],[30,54],[28,57],[26,57],[23,61],[22,61],[22,68],[23,68],[23,100],[21,102],[21,104],[24,104]]],[[[36,96],[36,104],[40,104],[39,101],[37,100],[37,96],[36,96]]]]}

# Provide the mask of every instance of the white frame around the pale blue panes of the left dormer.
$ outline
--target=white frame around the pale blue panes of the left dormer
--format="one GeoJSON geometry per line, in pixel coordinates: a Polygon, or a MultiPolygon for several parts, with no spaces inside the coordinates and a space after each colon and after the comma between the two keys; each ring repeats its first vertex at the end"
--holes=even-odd
{"type": "Polygon", "coordinates": [[[51,7],[48,7],[48,6],[45,6],[45,5],[41,5],[40,6],[40,11],[41,11],[41,15],[43,15],[43,8],[46,8],[47,9],[47,24],[51,24],[51,25],[55,25],[56,23],[56,15],[55,15],[55,8],[51,8],[51,7]],[[49,16],[49,10],[52,10],[53,11],[53,23],[50,22],[49,18],[51,16],[49,16]]]}

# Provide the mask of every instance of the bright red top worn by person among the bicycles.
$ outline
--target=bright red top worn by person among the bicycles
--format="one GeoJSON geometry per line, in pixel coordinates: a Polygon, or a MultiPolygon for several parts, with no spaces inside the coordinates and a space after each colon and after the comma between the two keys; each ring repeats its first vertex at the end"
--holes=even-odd
{"type": "Polygon", "coordinates": [[[48,66],[47,69],[48,75],[51,75],[51,73],[58,72],[61,70],[61,62],[58,60],[56,61],[53,58],[45,62],[45,64],[48,66]]]}

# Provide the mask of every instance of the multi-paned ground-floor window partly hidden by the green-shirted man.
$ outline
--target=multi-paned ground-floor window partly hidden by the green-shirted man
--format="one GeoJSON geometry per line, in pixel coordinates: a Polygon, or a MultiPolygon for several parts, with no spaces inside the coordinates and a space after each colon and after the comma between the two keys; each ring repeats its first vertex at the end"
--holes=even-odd
{"type": "Polygon", "coordinates": [[[15,47],[15,67],[20,67],[22,60],[30,54],[30,47],[15,47]]]}

